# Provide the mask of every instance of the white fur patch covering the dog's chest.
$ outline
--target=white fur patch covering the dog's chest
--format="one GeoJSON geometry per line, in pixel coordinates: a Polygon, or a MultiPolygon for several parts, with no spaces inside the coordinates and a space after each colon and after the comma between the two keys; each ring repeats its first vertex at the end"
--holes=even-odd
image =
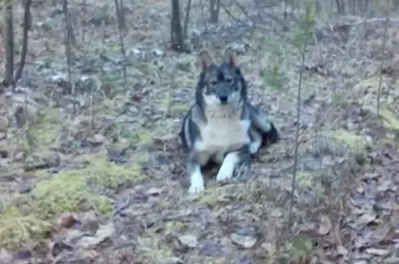
{"type": "Polygon", "coordinates": [[[210,157],[222,162],[227,152],[238,150],[249,143],[249,120],[240,120],[239,114],[215,111],[206,113],[207,123],[201,129],[201,141],[196,144],[199,162],[205,164],[210,157]]]}

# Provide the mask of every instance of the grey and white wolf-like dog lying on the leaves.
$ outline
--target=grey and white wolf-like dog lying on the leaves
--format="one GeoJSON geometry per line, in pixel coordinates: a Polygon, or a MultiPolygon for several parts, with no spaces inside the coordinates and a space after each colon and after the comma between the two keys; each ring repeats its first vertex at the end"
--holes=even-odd
{"type": "Polygon", "coordinates": [[[279,139],[274,124],[247,100],[247,82],[232,49],[222,64],[208,51],[199,53],[201,73],[195,103],[184,117],[179,136],[188,152],[189,193],[204,191],[201,167],[222,164],[216,180],[224,182],[241,164],[248,164],[260,146],[279,139]]]}

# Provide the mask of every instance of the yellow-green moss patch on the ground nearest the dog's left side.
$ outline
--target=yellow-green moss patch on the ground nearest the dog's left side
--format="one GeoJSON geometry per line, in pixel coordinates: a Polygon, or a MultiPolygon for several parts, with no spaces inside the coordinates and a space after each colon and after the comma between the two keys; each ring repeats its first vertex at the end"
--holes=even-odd
{"type": "Polygon", "coordinates": [[[100,154],[91,154],[80,157],[87,166],[77,173],[84,175],[90,184],[116,188],[118,184],[126,181],[140,181],[144,179],[141,174],[141,163],[146,161],[146,157],[132,162],[129,166],[122,166],[109,161],[107,157],[100,154]]]}

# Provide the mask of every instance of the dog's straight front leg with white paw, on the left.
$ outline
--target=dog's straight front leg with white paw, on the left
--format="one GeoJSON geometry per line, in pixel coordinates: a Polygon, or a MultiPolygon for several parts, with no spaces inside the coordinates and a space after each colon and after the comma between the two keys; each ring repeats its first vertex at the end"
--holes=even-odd
{"type": "Polygon", "coordinates": [[[190,153],[186,169],[188,175],[190,175],[190,188],[188,189],[188,193],[195,194],[204,191],[204,175],[202,175],[201,165],[196,151],[190,153]]]}

